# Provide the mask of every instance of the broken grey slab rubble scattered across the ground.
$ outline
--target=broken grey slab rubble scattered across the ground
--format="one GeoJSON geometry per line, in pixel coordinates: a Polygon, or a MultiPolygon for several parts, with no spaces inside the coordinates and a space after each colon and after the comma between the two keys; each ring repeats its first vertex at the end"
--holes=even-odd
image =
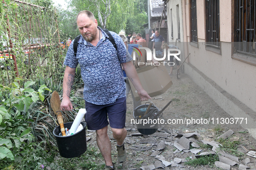
{"type": "MultiPolygon", "coordinates": [[[[227,139],[232,134],[233,131],[228,130],[220,135],[220,137],[227,139]]],[[[128,151],[127,154],[131,154],[132,157],[134,157],[133,160],[142,162],[140,163],[141,167],[139,167],[142,170],[168,169],[167,167],[173,167],[174,170],[189,170],[191,169],[191,166],[184,164],[187,162],[186,157],[197,159],[205,155],[213,154],[217,154],[219,157],[219,161],[215,161],[214,164],[220,169],[233,170],[239,166],[239,170],[245,170],[252,165],[249,157],[244,157],[243,160],[239,161],[238,157],[223,151],[220,143],[215,142],[214,140],[209,141],[209,139],[213,139],[213,137],[207,136],[208,138],[204,139],[204,136],[202,137],[199,132],[189,132],[188,130],[182,132],[181,129],[159,129],[158,132],[147,136],[148,138],[145,138],[141,133],[130,131],[130,135],[127,135],[125,138],[125,141],[127,142],[126,148],[131,149],[130,153],[128,151]],[[198,140],[199,137],[202,140],[198,140]],[[201,148],[201,146],[198,145],[200,142],[206,145],[211,145],[212,151],[201,148]],[[191,146],[193,148],[191,148],[191,146]],[[146,156],[154,157],[156,158],[156,161],[152,161],[151,164],[150,162],[146,162],[147,159],[142,157],[143,152],[141,151],[145,151],[145,153],[147,151],[146,156]],[[191,154],[189,154],[190,152],[191,154]],[[183,154],[185,156],[183,156],[183,154]]],[[[248,151],[246,146],[248,145],[241,144],[239,145],[239,148],[243,150],[247,156],[256,158],[256,152],[248,151]]],[[[135,170],[136,167],[131,165],[129,169],[135,170]]]]}

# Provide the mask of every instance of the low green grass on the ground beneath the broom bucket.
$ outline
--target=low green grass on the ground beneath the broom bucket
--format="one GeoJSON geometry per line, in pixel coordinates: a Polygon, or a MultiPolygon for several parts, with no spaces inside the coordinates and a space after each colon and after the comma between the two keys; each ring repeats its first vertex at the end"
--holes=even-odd
{"type": "Polygon", "coordinates": [[[105,164],[101,164],[104,161],[97,148],[87,148],[87,151],[80,157],[74,158],[60,158],[58,163],[65,170],[101,170],[105,167],[105,164]]]}

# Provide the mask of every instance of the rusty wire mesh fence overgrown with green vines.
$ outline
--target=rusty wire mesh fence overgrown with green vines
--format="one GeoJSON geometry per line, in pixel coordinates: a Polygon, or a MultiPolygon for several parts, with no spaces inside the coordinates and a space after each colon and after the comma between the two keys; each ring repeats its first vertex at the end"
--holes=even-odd
{"type": "Polygon", "coordinates": [[[0,20],[3,84],[10,84],[16,76],[54,79],[66,50],[60,43],[56,10],[19,0],[8,3],[2,2],[0,20]]]}

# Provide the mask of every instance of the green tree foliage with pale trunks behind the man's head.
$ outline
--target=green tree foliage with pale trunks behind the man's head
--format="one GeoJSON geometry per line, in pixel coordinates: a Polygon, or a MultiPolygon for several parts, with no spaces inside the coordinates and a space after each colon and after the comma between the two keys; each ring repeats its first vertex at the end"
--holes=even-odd
{"type": "Polygon", "coordinates": [[[81,10],[91,11],[101,28],[117,33],[121,29],[142,32],[141,27],[147,22],[147,0],[70,0],[68,4],[68,9],[59,11],[59,28],[64,39],[79,35],[76,15],[81,10]]]}

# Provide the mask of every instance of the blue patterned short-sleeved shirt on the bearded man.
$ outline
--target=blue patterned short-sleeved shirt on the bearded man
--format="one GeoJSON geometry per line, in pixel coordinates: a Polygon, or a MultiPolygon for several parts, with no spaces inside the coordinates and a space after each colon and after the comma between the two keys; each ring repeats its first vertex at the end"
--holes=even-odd
{"type": "Polygon", "coordinates": [[[133,60],[128,52],[126,53],[126,47],[119,35],[110,31],[117,44],[116,50],[108,35],[103,30],[101,33],[103,36],[96,47],[81,37],[76,57],[73,40],[64,62],[71,68],[80,64],[84,81],[84,100],[97,105],[114,103],[116,99],[125,97],[125,82],[120,63],[133,60]]]}

